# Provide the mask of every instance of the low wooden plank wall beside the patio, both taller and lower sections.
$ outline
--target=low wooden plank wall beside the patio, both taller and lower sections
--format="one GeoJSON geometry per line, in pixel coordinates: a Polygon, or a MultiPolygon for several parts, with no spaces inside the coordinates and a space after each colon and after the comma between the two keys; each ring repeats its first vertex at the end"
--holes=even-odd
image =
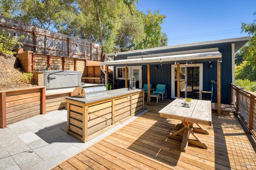
{"type": "Polygon", "coordinates": [[[0,91],[0,128],[34,115],[65,109],[65,98],[70,96],[72,91],[46,94],[45,86],[0,91]]]}

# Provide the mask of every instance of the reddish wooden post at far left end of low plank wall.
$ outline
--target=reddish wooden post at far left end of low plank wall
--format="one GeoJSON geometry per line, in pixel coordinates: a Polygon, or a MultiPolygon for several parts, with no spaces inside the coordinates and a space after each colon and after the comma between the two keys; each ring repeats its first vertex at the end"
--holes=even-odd
{"type": "Polygon", "coordinates": [[[6,92],[0,93],[0,128],[6,127],[6,92]]]}

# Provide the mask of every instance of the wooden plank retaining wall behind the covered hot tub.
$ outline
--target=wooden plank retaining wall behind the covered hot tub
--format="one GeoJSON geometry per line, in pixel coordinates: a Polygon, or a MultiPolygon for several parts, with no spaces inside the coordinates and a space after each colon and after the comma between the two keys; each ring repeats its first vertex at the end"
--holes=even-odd
{"type": "Polygon", "coordinates": [[[102,77],[99,61],[88,61],[86,59],[54,55],[42,55],[33,53],[32,51],[19,53],[18,61],[25,72],[33,72],[34,79],[39,86],[44,86],[44,84],[42,84],[43,81],[40,81],[38,75],[40,71],[43,70],[81,71],[82,80],[86,83],[100,83],[102,77]]]}

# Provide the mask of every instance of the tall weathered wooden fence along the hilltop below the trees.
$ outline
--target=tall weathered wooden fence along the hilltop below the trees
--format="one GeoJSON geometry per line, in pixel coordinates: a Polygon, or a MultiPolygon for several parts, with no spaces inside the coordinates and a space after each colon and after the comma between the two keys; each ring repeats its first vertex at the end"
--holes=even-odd
{"type": "Polygon", "coordinates": [[[25,38],[19,40],[23,43],[24,51],[103,61],[99,44],[40,29],[31,23],[0,16],[0,30],[10,35],[14,35],[14,32],[18,36],[24,35],[25,38]]]}

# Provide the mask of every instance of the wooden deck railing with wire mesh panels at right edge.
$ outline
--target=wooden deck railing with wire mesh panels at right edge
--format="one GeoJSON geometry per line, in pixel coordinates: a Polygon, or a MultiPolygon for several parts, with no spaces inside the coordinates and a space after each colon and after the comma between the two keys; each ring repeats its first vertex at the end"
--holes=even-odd
{"type": "Polygon", "coordinates": [[[256,139],[256,93],[231,84],[231,104],[256,139]]]}

